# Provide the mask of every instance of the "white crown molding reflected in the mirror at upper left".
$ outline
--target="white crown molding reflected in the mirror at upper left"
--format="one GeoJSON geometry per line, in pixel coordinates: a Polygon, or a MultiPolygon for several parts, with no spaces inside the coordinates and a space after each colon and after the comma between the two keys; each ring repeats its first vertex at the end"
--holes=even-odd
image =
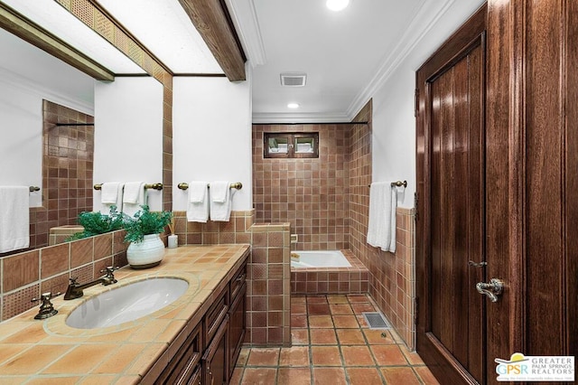
{"type": "Polygon", "coordinates": [[[0,83],[12,87],[13,89],[20,89],[29,95],[38,96],[64,107],[75,109],[83,114],[94,116],[94,104],[90,105],[89,103],[81,102],[78,99],[71,99],[60,92],[54,92],[54,90],[48,89],[33,80],[24,78],[22,75],[11,70],[0,68],[0,83]]]}

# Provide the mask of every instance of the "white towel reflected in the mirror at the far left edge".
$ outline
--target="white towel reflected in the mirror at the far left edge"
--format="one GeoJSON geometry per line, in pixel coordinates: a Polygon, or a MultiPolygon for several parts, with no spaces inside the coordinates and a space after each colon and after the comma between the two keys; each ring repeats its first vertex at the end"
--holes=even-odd
{"type": "Polygon", "coordinates": [[[30,246],[30,189],[0,187],[0,253],[30,246]]]}

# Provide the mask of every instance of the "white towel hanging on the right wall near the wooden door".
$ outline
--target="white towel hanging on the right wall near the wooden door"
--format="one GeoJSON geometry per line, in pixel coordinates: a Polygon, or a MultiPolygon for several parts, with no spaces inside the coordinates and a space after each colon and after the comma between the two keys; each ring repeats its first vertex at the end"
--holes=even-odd
{"type": "Polygon", "coordinates": [[[369,245],[392,253],[396,251],[396,207],[396,187],[392,187],[389,182],[371,183],[369,188],[369,245]]]}

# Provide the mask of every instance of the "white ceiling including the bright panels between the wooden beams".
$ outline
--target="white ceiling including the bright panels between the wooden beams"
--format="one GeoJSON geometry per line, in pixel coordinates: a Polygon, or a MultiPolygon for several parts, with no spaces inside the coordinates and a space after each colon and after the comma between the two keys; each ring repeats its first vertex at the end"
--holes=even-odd
{"type": "MultiPolygon", "coordinates": [[[[0,1],[114,73],[143,73],[56,1],[0,1]]],[[[98,1],[173,72],[223,73],[178,0],[98,1]]],[[[225,0],[251,63],[254,122],[350,121],[458,0],[350,0],[339,13],[325,1],[225,0]],[[282,87],[285,71],[307,73],[306,86],[282,87]]]]}

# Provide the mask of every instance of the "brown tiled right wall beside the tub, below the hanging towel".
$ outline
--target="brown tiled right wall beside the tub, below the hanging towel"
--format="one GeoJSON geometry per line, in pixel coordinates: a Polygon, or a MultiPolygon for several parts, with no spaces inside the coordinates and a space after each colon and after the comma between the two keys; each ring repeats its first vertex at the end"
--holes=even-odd
{"type": "Polygon", "coordinates": [[[415,349],[415,211],[396,211],[396,253],[368,245],[371,183],[371,104],[359,112],[351,133],[350,249],[369,269],[369,294],[410,349],[415,349]]]}

